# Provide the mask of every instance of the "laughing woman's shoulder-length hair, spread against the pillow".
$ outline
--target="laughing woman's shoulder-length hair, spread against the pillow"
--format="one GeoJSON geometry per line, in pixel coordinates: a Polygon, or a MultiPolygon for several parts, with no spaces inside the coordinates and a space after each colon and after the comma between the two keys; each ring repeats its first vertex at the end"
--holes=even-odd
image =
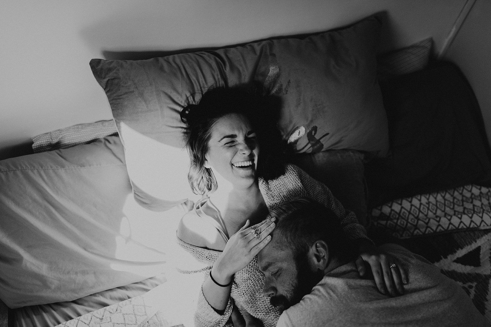
{"type": "Polygon", "coordinates": [[[282,141],[276,127],[279,109],[278,98],[263,96],[253,85],[215,87],[202,94],[197,104],[186,105],[181,121],[186,124],[184,139],[191,159],[188,180],[192,192],[201,195],[218,187],[213,172],[204,166],[205,155],[212,127],[230,113],[247,117],[256,132],[260,146],[257,177],[271,179],[282,174],[282,141]]]}

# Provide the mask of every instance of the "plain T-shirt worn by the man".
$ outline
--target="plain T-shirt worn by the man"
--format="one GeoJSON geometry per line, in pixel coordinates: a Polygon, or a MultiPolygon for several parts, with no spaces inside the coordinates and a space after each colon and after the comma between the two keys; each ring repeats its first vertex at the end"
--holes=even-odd
{"type": "Polygon", "coordinates": [[[350,262],[327,273],[310,294],[283,312],[277,326],[488,326],[461,286],[436,266],[395,244],[382,249],[409,270],[404,295],[379,293],[374,281],[360,279],[350,262]]]}

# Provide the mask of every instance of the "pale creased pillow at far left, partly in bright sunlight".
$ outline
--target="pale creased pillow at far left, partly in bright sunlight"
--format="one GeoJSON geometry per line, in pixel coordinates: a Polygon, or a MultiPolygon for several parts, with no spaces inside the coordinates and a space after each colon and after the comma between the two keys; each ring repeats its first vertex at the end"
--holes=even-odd
{"type": "Polygon", "coordinates": [[[0,299],[10,308],[161,274],[182,216],[136,204],[118,136],[1,160],[0,212],[0,299]]]}

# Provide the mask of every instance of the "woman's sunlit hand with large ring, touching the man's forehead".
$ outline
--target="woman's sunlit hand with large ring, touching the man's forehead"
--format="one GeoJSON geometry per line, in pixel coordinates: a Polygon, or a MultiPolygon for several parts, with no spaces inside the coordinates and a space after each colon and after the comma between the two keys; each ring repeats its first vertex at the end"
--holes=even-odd
{"type": "Polygon", "coordinates": [[[263,222],[249,226],[249,220],[237,233],[232,235],[225,245],[225,249],[213,265],[213,278],[220,284],[228,284],[235,273],[246,268],[252,259],[271,240],[269,235],[274,229],[274,220],[266,219],[263,222]]]}

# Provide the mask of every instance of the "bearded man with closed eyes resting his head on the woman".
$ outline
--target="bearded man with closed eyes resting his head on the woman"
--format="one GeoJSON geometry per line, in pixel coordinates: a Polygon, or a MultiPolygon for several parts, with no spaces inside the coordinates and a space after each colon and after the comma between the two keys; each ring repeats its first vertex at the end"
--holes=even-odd
{"type": "Polygon", "coordinates": [[[406,266],[409,283],[398,297],[378,292],[359,277],[353,245],[319,203],[291,201],[270,216],[277,225],[258,265],[264,295],[283,310],[277,326],[489,326],[457,283],[395,244],[383,249],[406,266]]]}

